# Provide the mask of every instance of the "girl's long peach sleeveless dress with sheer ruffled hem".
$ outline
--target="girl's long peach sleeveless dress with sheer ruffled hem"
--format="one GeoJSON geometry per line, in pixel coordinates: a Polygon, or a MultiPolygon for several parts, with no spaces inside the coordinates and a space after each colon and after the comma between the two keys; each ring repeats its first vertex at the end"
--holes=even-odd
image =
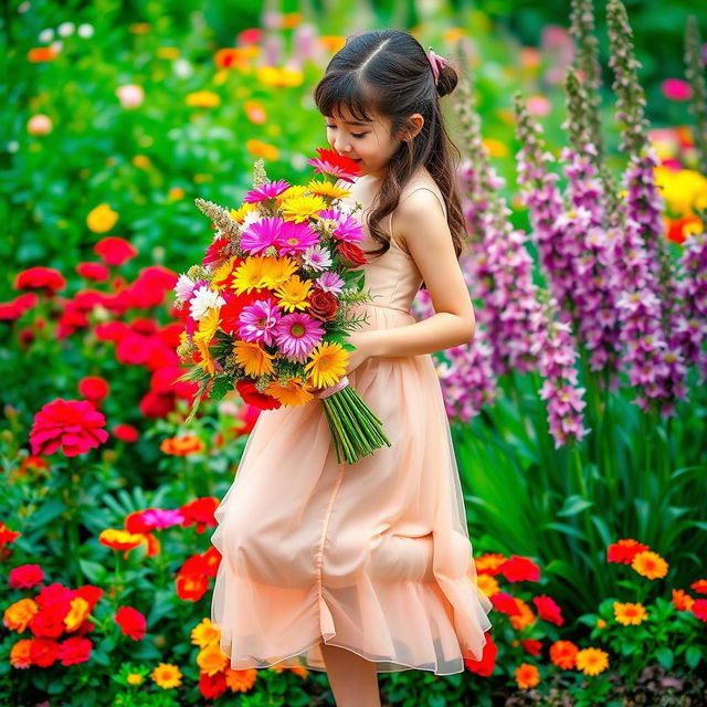
{"type": "MultiPolygon", "coordinates": [[[[420,183],[407,184],[401,200],[420,183]]],[[[363,231],[360,245],[378,247],[365,222],[363,231]]],[[[362,329],[414,324],[422,276],[413,258],[391,239],[361,267],[376,297],[356,306],[368,315],[362,329]]],[[[337,463],[318,398],[260,413],[214,513],[221,561],[211,621],[221,651],[234,669],[326,671],[324,641],[378,673],[462,673],[464,658],[482,657],[492,603],[476,585],[434,362],[370,358],[348,378],[392,446],[337,463]]]]}

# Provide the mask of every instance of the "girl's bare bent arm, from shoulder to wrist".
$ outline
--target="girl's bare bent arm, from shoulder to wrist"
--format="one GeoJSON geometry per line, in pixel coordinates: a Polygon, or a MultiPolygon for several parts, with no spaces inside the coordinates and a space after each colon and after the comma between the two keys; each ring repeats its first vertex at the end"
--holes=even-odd
{"type": "Polygon", "coordinates": [[[442,204],[421,189],[399,204],[395,221],[436,314],[404,327],[362,331],[369,356],[420,356],[468,344],[476,330],[474,305],[442,204]]]}

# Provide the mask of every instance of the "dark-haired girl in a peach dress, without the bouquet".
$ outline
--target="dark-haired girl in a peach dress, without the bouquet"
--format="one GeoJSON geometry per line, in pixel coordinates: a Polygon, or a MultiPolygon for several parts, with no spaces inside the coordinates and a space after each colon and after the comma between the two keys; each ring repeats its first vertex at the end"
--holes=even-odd
{"type": "Polygon", "coordinates": [[[337,464],[318,399],[263,411],[215,511],[211,619],[231,666],[326,671],[339,707],[378,707],[377,673],[463,672],[490,627],[430,356],[475,328],[439,105],[456,82],[410,34],[379,30],[349,38],[315,94],[331,149],[359,162],[344,203],[365,207],[374,302],[357,306],[347,376],[392,446],[337,464]],[[415,321],[423,283],[436,314],[415,321]]]}

